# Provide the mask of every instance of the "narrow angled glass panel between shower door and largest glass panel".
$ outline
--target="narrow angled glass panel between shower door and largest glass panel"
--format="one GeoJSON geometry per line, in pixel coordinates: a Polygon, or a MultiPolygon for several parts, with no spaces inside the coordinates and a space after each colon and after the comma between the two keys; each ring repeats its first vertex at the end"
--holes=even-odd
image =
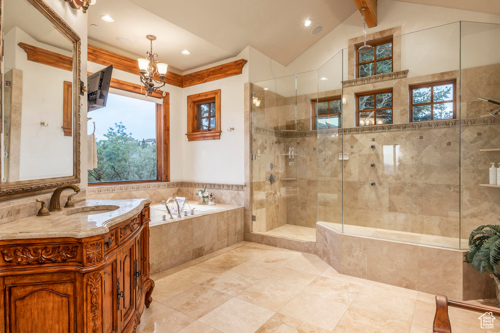
{"type": "MultiPolygon", "coordinates": [[[[349,163],[350,151],[342,150],[342,53],[318,69],[318,96],[312,107],[312,128],[317,133],[318,221],[338,231],[342,231],[342,164],[349,163]]],[[[349,177],[345,186],[354,188],[349,177]]]]}

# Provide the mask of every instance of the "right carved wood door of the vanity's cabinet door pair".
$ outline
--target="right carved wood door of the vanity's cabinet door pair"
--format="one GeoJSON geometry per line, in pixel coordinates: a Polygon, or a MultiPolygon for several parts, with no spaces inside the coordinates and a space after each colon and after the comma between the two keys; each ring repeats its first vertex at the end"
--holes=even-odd
{"type": "Polygon", "coordinates": [[[131,239],[119,253],[119,301],[120,301],[120,330],[123,330],[130,320],[136,308],[136,295],[134,286],[134,263],[136,263],[135,239],[131,239]]]}

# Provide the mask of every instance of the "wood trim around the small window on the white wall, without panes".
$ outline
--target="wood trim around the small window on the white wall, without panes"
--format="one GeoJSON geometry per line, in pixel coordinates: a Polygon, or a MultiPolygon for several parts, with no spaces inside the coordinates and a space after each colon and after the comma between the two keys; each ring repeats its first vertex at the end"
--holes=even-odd
{"type": "Polygon", "coordinates": [[[220,89],[187,96],[187,141],[220,139],[220,89]],[[215,101],[215,128],[198,131],[196,129],[196,105],[215,101]]]}

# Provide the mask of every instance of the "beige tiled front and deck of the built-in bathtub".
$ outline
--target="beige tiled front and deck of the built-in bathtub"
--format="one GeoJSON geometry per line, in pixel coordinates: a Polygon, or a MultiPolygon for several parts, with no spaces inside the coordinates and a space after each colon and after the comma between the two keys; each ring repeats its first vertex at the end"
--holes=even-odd
{"type": "MultiPolygon", "coordinates": [[[[207,255],[243,240],[243,207],[224,204],[197,205],[210,211],[168,219],[164,206],[151,206],[149,258],[151,274],[207,255]],[[166,215],[166,221],[161,216],[166,215]]],[[[175,215],[174,215],[175,217],[175,215]]]]}

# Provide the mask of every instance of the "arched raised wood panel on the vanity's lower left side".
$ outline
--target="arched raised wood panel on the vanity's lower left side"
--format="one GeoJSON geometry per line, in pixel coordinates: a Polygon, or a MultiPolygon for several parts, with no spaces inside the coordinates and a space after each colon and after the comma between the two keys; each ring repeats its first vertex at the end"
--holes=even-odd
{"type": "Polygon", "coordinates": [[[73,274],[6,277],[4,283],[6,332],[75,332],[73,274]]]}

